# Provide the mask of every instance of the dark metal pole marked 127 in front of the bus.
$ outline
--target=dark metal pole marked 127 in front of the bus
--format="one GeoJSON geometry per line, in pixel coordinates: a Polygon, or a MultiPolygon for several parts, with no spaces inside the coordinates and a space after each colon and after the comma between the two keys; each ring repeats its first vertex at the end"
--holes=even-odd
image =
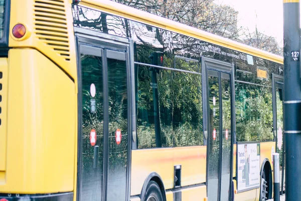
{"type": "Polygon", "coordinates": [[[285,201],[301,200],[299,0],[283,0],[285,201]]]}

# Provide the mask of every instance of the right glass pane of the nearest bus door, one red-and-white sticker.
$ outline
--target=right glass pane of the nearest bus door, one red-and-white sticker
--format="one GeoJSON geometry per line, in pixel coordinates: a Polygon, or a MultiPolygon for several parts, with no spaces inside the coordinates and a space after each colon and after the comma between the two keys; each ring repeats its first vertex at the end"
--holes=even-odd
{"type": "Polygon", "coordinates": [[[109,163],[107,200],[122,200],[126,191],[127,87],[126,61],[107,59],[109,100],[109,163]],[[115,190],[119,186],[118,190],[115,190]]]}

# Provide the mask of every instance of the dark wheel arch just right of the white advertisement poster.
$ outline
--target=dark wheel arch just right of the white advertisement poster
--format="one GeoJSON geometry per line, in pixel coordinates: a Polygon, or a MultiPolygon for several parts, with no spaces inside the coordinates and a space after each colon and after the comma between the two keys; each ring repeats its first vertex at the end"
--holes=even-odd
{"type": "MultiPolygon", "coordinates": [[[[260,169],[260,183],[261,183],[261,177],[263,171],[265,172],[265,177],[267,181],[267,199],[272,198],[272,192],[273,192],[273,179],[272,179],[272,168],[271,168],[271,163],[270,161],[265,158],[261,164],[261,169],[260,169]]],[[[261,185],[260,185],[260,193],[259,197],[261,197],[261,185]]]]}

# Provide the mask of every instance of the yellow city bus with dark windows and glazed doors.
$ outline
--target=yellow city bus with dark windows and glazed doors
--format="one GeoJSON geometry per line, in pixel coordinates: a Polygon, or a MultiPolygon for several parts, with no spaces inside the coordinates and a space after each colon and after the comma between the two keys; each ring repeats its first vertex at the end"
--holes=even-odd
{"type": "Polygon", "coordinates": [[[111,1],[0,11],[1,201],[272,197],[282,57],[111,1]]]}

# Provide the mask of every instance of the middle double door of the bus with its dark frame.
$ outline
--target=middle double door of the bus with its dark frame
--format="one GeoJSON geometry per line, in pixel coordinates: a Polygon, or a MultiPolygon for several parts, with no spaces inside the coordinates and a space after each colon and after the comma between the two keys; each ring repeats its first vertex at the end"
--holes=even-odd
{"type": "Polygon", "coordinates": [[[202,57],[208,200],[231,200],[234,65],[202,57]],[[207,115],[205,115],[207,114],[207,115]],[[206,117],[207,116],[207,117],[206,117]]]}

